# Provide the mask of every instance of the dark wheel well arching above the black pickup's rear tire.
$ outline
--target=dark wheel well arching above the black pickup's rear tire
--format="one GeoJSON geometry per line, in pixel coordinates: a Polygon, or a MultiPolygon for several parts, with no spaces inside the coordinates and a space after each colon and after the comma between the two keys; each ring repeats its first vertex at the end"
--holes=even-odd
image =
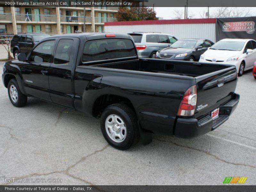
{"type": "Polygon", "coordinates": [[[132,105],[132,102],[122,96],[118,96],[118,95],[102,95],[100,96],[98,99],[95,100],[94,104],[93,104],[93,109],[92,109],[92,115],[94,117],[100,117],[103,110],[108,107],[109,105],[115,104],[115,103],[124,103],[126,105],[128,105],[129,107],[131,107],[134,111],[134,107],[132,105]]]}

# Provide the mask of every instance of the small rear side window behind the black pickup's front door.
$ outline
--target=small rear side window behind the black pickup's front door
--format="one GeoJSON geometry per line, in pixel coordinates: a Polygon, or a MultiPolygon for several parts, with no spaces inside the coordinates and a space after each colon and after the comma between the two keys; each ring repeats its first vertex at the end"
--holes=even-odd
{"type": "Polygon", "coordinates": [[[69,62],[70,53],[72,50],[72,39],[61,39],[58,43],[55,55],[54,64],[65,64],[69,62]]]}

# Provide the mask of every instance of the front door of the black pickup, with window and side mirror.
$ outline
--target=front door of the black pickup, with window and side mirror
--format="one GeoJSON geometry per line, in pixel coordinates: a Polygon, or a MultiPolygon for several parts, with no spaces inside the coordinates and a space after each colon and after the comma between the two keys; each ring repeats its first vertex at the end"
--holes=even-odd
{"type": "Polygon", "coordinates": [[[21,73],[28,95],[51,101],[48,72],[53,59],[54,46],[55,39],[38,44],[31,52],[28,63],[22,64],[21,73]]]}

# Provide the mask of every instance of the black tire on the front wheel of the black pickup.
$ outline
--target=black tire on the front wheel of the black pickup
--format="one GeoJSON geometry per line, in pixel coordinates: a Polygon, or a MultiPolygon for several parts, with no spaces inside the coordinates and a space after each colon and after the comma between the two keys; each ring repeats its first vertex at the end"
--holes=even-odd
{"type": "Polygon", "coordinates": [[[9,99],[12,103],[12,105],[14,105],[15,107],[23,107],[26,105],[28,97],[27,95],[24,95],[21,91],[20,91],[20,87],[17,83],[16,79],[11,79],[8,83],[8,95],[9,95],[9,99]],[[11,96],[11,92],[10,89],[15,89],[15,95],[17,95],[17,97],[12,98],[11,96]],[[16,100],[16,102],[15,102],[16,100]]]}

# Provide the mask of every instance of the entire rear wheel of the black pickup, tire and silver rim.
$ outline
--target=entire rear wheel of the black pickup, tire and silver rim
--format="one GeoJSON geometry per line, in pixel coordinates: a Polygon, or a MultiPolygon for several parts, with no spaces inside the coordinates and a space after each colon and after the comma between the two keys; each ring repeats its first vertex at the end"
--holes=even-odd
{"type": "Polygon", "coordinates": [[[108,106],[101,115],[100,127],[107,142],[120,150],[130,148],[140,138],[136,114],[124,104],[108,106]]]}

